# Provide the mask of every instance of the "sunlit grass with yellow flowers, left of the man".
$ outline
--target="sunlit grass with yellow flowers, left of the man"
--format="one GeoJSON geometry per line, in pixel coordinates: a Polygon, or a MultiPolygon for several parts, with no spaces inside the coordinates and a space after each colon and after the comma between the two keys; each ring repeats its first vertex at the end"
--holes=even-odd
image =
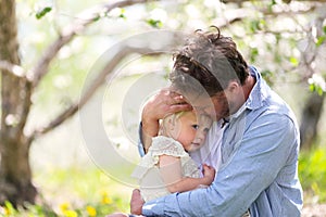
{"type": "Polygon", "coordinates": [[[37,205],[13,208],[8,202],[0,206],[0,216],[77,217],[129,213],[131,188],[110,179],[97,168],[53,169],[37,174],[37,205]]]}

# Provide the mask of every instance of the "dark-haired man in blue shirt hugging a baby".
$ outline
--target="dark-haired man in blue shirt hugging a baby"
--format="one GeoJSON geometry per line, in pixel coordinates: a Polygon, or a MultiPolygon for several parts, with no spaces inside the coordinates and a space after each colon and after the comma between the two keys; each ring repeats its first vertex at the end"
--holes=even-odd
{"type": "MultiPolygon", "coordinates": [[[[145,216],[233,217],[248,209],[254,217],[300,216],[299,130],[288,105],[220,29],[196,31],[174,61],[172,88],[158,93],[142,111],[145,151],[166,113],[193,108],[221,120],[224,129],[221,155],[205,149],[193,157],[221,161],[221,166],[206,189],[145,204],[134,191],[131,210],[145,216]]],[[[214,143],[214,131],[209,137],[214,143]]]]}

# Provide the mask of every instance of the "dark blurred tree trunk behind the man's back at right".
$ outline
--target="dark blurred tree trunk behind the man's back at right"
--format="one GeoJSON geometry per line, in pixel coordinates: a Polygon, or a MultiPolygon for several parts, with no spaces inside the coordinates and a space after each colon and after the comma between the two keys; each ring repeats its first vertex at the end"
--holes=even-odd
{"type": "Polygon", "coordinates": [[[324,95],[316,92],[310,94],[301,114],[300,136],[301,149],[310,150],[317,137],[317,125],[322,115],[324,95]]]}

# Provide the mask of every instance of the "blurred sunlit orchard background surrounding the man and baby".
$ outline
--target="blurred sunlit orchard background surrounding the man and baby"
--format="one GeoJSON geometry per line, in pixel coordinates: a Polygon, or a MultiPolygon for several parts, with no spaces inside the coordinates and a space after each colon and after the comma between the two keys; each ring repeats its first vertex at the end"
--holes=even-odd
{"type": "Polygon", "coordinates": [[[324,204],[325,0],[1,0],[0,215],[128,212],[135,186],[124,177],[139,161],[141,103],[168,84],[172,64],[164,41],[147,33],[211,25],[235,39],[293,108],[304,207],[324,204]],[[121,46],[135,37],[148,43],[121,46]],[[141,93],[136,102],[133,92],[141,93]],[[131,164],[105,168],[92,154],[85,133],[96,135],[98,116],[114,146],[106,157],[114,152],[131,164]]]}

